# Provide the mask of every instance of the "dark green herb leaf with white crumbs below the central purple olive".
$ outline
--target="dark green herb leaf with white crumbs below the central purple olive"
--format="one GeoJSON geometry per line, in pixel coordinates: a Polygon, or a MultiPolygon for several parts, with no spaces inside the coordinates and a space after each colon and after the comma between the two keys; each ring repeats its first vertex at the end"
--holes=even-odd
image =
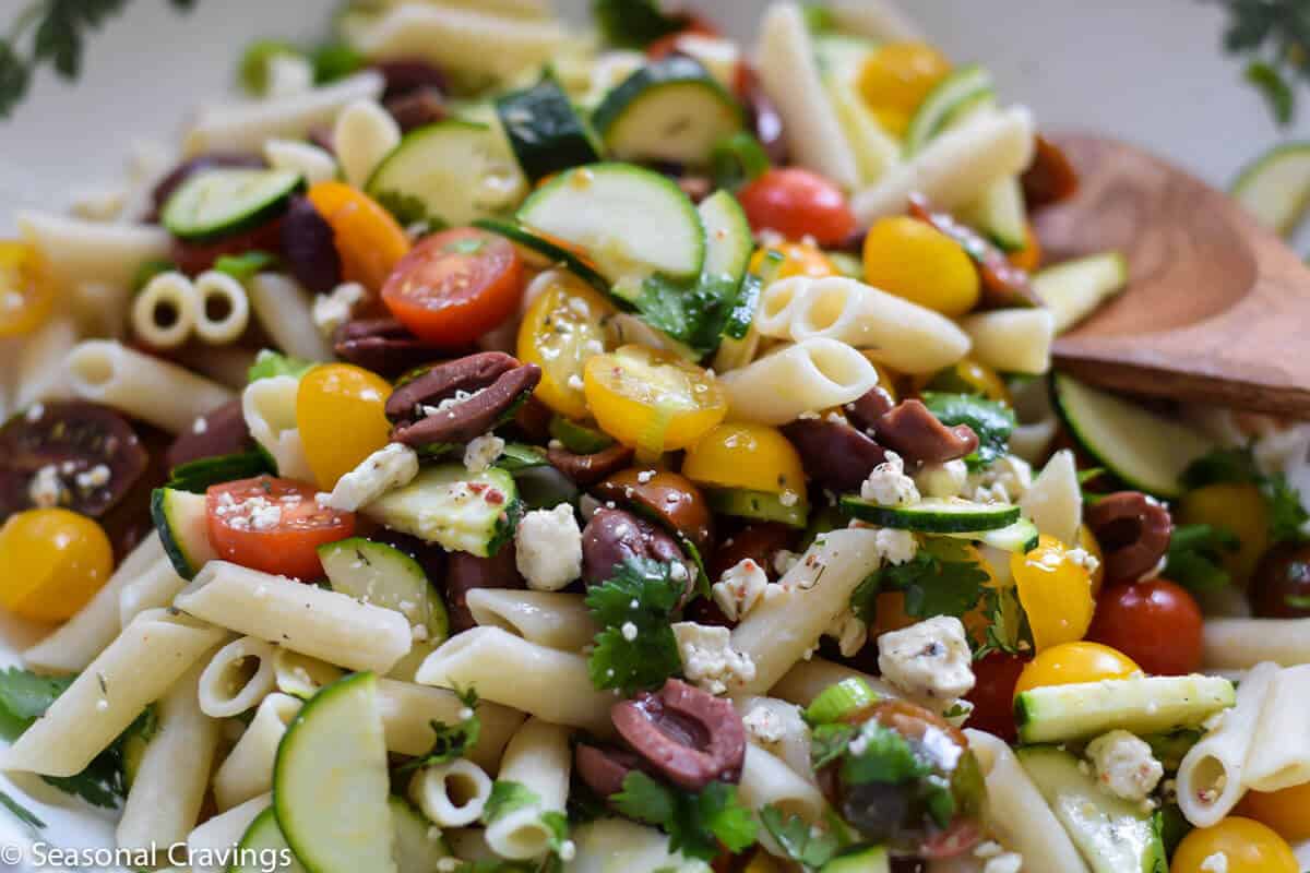
{"type": "Polygon", "coordinates": [[[629,558],[609,581],[588,590],[587,607],[604,628],[587,662],[591,683],[633,694],[679,673],[683,658],[669,624],[681,596],[683,582],[672,579],[669,564],[648,558],[629,558]]]}

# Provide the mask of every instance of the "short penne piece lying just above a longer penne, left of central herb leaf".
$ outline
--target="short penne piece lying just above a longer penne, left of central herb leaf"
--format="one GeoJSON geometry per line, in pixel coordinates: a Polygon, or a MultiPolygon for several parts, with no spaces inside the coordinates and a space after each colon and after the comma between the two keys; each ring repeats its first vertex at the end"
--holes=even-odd
{"type": "Polygon", "coordinates": [[[473,620],[529,643],[578,652],[599,632],[582,594],[474,588],[466,598],[473,620]]]}

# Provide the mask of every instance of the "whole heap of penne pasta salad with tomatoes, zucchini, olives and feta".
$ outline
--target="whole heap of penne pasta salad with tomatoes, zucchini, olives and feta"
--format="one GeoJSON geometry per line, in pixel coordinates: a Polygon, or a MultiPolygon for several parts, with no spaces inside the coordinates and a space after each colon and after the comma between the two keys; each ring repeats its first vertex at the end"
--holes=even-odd
{"type": "Polygon", "coordinates": [[[1052,372],[1129,264],[899,10],[593,13],[351,3],[18,216],[0,770],[136,869],[1303,869],[1307,425],[1052,372]]]}

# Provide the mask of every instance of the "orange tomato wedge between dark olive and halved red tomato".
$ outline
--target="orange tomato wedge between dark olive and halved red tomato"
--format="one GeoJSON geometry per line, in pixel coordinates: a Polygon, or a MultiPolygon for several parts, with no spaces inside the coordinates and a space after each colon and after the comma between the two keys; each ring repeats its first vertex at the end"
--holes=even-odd
{"type": "Polygon", "coordinates": [[[305,196],[331,225],[346,281],[381,291],[396,263],[410,250],[405,229],[376,200],[345,182],[316,182],[305,196]]]}

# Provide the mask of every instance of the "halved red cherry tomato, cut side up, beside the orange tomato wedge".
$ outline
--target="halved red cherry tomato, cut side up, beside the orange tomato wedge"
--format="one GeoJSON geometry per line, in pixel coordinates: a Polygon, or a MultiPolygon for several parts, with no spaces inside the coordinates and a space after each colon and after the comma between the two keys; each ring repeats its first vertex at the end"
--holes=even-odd
{"type": "Polygon", "coordinates": [[[426,237],[383,285],[383,302],[419,338],[472,343],[519,306],[523,259],[504,237],[456,228],[426,237]]]}

